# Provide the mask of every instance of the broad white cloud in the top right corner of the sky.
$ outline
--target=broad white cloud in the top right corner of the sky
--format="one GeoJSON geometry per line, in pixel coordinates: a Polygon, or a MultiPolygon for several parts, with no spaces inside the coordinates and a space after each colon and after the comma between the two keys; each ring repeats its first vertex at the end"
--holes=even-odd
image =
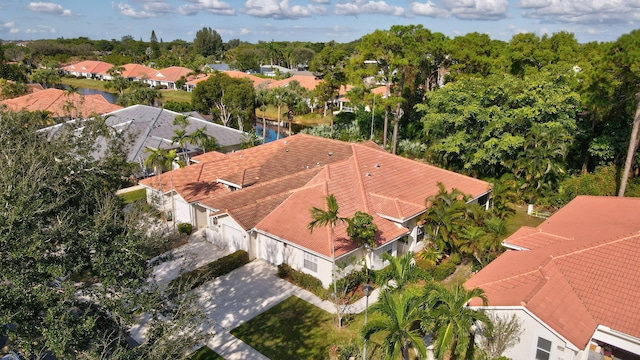
{"type": "Polygon", "coordinates": [[[638,0],[521,0],[522,16],[570,24],[616,24],[640,21],[638,0]]]}

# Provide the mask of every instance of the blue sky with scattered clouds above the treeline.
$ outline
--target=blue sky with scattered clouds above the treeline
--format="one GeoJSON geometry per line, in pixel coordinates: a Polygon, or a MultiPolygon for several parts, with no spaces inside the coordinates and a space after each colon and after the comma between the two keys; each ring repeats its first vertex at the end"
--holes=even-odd
{"type": "Polygon", "coordinates": [[[613,41],[640,28],[640,0],[0,0],[0,39],[192,41],[203,27],[223,41],[348,42],[396,24],[422,24],[449,37],[469,32],[574,33],[613,41]]]}

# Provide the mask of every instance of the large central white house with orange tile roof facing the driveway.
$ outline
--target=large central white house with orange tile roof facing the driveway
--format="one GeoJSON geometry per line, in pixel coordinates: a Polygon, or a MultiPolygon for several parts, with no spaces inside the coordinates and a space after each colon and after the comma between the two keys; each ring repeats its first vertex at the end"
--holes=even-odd
{"type": "MultiPolygon", "coordinates": [[[[198,163],[140,182],[150,200],[164,195],[164,207],[180,222],[206,227],[212,242],[246,250],[251,258],[287,263],[331,281],[329,227],[309,233],[311,207],[324,207],[334,194],[339,216],[371,214],[378,226],[376,247],[367,253],[336,227],[335,260],[367,257],[372,269],[392,255],[421,247],[417,225],[425,199],[438,182],[458,188],[471,202],[487,204],[489,184],[434,166],[391,155],[373,142],[345,143],[297,134],[231,154],[204,154],[198,163]]],[[[161,203],[159,203],[161,204],[161,203]]]]}

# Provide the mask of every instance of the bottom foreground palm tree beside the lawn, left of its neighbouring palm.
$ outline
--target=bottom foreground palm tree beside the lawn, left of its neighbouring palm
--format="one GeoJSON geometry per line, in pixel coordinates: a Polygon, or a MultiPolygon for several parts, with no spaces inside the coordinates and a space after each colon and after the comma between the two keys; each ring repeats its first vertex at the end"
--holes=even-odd
{"type": "Polygon", "coordinates": [[[409,360],[409,347],[413,347],[420,358],[426,357],[427,350],[420,333],[420,324],[425,316],[419,296],[412,292],[396,296],[390,291],[383,291],[371,311],[380,314],[381,318],[369,321],[362,329],[362,337],[369,341],[374,334],[386,334],[382,343],[386,359],[401,356],[403,360],[409,360]]]}

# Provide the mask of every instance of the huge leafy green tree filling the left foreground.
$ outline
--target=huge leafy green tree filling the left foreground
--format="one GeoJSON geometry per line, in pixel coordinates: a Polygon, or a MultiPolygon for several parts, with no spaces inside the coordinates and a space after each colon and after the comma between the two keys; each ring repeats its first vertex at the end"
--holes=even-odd
{"type": "Polygon", "coordinates": [[[56,136],[34,131],[35,114],[0,112],[0,120],[0,257],[12,262],[0,275],[0,322],[12,324],[4,331],[13,349],[27,358],[131,358],[173,338],[184,356],[195,344],[179,331],[136,350],[124,341],[134,311],[176,312],[164,298],[141,301],[161,294],[147,282],[152,240],[142,217],[114,195],[130,174],[123,139],[101,118],[56,136]],[[92,156],[97,138],[107,143],[101,159],[92,156]]]}

